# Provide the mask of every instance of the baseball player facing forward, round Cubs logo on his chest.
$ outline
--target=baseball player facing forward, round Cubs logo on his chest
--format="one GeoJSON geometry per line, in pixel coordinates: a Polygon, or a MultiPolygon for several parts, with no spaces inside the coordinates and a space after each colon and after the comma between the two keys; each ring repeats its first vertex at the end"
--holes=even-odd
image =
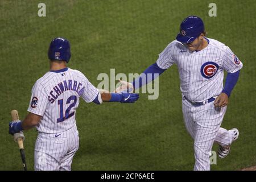
{"type": "Polygon", "coordinates": [[[146,81],[144,76],[140,76],[130,83],[132,88],[127,84],[118,88],[137,89],[154,80],[172,64],[177,64],[184,123],[194,140],[194,170],[210,170],[209,154],[213,143],[219,144],[218,156],[225,158],[239,135],[237,129],[226,130],[220,126],[242,63],[229,47],[208,39],[205,34],[203,20],[188,16],[180,24],[176,40],[168,44],[156,63],[144,71],[146,81]],[[223,87],[224,71],[228,75],[223,87]]]}

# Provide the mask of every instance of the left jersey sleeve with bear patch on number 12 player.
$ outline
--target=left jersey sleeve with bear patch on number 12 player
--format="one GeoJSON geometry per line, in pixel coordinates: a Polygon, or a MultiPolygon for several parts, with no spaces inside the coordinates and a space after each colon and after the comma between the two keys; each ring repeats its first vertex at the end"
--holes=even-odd
{"type": "Polygon", "coordinates": [[[40,82],[36,82],[32,88],[32,95],[30,105],[27,111],[37,115],[43,115],[46,110],[47,104],[49,104],[46,90],[40,82]]]}

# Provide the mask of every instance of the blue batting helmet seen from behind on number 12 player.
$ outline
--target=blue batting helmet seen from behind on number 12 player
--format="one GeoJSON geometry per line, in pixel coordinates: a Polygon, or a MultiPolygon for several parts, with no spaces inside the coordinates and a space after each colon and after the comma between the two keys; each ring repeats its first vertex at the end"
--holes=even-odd
{"type": "Polygon", "coordinates": [[[55,38],[52,40],[48,49],[49,60],[69,61],[71,57],[70,44],[67,39],[55,38]]]}

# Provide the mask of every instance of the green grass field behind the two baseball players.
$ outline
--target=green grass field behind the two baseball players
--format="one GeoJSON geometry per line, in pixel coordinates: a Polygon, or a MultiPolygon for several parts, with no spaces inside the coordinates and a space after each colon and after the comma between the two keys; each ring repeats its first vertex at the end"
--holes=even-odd
{"type": "MultiPolygon", "coordinates": [[[[98,74],[109,74],[110,68],[143,72],[191,14],[204,20],[209,38],[225,43],[243,63],[222,123],[237,127],[240,138],[212,170],[256,165],[254,0],[215,0],[217,17],[208,16],[208,0],[44,0],[46,17],[38,16],[39,2],[0,1],[0,170],[22,170],[18,146],[8,134],[10,111],[18,110],[20,119],[26,116],[31,88],[49,70],[51,39],[63,36],[71,42],[68,66],[97,86],[98,74]]],[[[80,148],[72,169],[192,170],[193,141],[183,123],[176,65],[160,76],[158,100],[147,97],[141,94],[133,105],[81,101],[76,113],[80,148]]],[[[27,166],[33,170],[37,133],[32,129],[24,135],[27,166]]]]}

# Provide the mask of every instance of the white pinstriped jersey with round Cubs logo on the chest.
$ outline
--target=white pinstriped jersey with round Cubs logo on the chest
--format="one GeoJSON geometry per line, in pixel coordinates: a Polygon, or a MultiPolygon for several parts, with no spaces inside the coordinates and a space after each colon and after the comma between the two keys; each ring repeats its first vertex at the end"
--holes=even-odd
{"type": "Polygon", "coordinates": [[[223,89],[224,70],[234,73],[243,66],[225,44],[214,39],[207,41],[207,47],[192,52],[174,40],[159,54],[156,61],[162,69],[177,64],[181,93],[193,102],[202,102],[218,96],[223,89]]]}

